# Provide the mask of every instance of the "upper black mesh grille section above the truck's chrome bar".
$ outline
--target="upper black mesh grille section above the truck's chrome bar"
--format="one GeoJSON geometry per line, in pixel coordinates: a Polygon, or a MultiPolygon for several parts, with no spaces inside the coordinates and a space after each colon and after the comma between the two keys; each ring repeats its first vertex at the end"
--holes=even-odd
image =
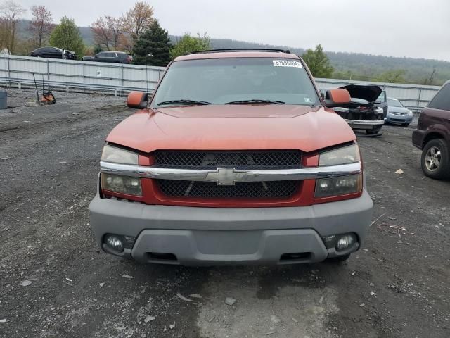
{"type": "Polygon", "coordinates": [[[298,168],[301,153],[281,151],[157,151],[155,165],[163,168],[236,169],[298,168]]]}

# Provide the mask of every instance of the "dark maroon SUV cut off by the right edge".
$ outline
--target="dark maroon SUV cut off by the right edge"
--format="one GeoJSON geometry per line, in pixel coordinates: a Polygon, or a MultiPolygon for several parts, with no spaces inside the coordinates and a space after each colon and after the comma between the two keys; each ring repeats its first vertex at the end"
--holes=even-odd
{"type": "Polygon", "coordinates": [[[422,149],[425,175],[437,180],[450,177],[450,81],[420,113],[413,145],[422,149]]]}

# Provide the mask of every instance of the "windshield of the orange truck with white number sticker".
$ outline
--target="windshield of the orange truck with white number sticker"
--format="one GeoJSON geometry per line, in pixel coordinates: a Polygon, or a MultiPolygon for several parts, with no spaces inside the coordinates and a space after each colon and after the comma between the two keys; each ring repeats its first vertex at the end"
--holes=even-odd
{"type": "Polygon", "coordinates": [[[153,107],[195,104],[319,104],[300,61],[215,58],[172,63],[153,107]]]}

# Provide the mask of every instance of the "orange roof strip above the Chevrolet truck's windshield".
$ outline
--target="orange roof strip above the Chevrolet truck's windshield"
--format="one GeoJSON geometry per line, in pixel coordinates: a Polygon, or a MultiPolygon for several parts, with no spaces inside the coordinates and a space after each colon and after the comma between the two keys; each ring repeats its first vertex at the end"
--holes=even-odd
{"type": "Polygon", "coordinates": [[[194,52],[184,56],[175,58],[174,61],[200,60],[205,58],[292,58],[300,59],[297,55],[289,53],[289,51],[278,51],[275,49],[231,49],[231,50],[212,50],[194,52]]]}

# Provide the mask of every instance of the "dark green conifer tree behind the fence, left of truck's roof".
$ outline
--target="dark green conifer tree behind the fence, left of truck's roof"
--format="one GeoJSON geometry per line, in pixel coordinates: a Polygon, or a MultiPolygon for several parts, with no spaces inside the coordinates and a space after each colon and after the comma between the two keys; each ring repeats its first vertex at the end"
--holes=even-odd
{"type": "Polygon", "coordinates": [[[162,29],[158,20],[153,20],[134,44],[134,63],[165,67],[170,62],[171,47],[169,33],[162,29]]]}

